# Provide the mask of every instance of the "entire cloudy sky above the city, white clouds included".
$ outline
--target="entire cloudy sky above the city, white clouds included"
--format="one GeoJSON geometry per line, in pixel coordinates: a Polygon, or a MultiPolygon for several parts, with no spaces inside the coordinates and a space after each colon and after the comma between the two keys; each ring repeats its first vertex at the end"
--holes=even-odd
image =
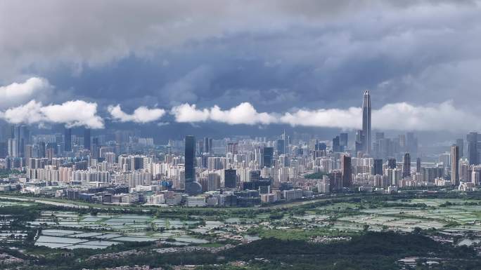
{"type": "MultiPolygon", "coordinates": [[[[0,119],[481,130],[481,2],[1,1],[0,119]]],[[[215,127],[215,128],[212,128],[215,127]]]]}

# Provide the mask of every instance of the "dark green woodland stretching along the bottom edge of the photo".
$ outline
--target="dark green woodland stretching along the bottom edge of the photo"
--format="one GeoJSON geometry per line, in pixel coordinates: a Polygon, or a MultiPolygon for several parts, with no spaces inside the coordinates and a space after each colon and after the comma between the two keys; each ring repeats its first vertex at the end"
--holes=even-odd
{"type": "MultiPolygon", "coordinates": [[[[320,244],[307,241],[284,241],[265,238],[219,254],[211,252],[169,253],[159,255],[149,252],[122,259],[85,260],[77,252],[77,259],[65,260],[56,257],[40,262],[41,266],[30,265],[28,269],[103,269],[105,267],[146,264],[167,266],[196,264],[199,270],[238,269],[399,269],[398,259],[410,256],[445,258],[447,263],[466,266],[479,265],[473,248],[440,244],[422,234],[397,234],[388,232],[366,232],[353,236],[352,241],[320,244]],[[233,266],[231,262],[244,261],[245,266],[233,266]]],[[[35,264],[39,265],[39,264],[35,264]]],[[[463,269],[463,268],[454,269],[463,269]]]]}

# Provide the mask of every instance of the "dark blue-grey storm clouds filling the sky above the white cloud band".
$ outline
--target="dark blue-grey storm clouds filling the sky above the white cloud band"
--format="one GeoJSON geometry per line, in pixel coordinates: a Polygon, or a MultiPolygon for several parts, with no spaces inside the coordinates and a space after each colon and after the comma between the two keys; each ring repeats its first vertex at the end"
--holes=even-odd
{"type": "Polygon", "coordinates": [[[0,81],[41,76],[103,113],[347,108],[365,88],[376,107],[477,106],[479,14],[478,1],[4,1],[0,81]]]}

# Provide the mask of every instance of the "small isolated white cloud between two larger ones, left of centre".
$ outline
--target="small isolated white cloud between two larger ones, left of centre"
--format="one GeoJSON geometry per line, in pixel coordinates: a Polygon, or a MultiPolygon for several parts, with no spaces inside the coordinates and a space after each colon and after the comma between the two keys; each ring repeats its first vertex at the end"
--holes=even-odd
{"type": "Polygon", "coordinates": [[[119,104],[116,106],[110,105],[107,110],[113,119],[120,122],[148,123],[157,121],[165,114],[165,109],[148,109],[144,106],[135,109],[133,114],[127,114],[122,111],[119,104]]]}

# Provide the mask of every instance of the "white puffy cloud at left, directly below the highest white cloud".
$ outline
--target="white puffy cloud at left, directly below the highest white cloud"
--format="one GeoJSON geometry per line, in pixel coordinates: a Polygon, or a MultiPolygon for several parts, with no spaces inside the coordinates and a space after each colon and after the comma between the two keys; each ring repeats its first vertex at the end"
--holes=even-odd
{"type": "Polygon", "coordinates": [[[31,100],[27,104],[7,109],[0,116],[8,123],[15,124],[60,123],[68,127],[103,128],[103,119],[97,115],[97,104],[83,100],[46,106],[31,100]]]}

